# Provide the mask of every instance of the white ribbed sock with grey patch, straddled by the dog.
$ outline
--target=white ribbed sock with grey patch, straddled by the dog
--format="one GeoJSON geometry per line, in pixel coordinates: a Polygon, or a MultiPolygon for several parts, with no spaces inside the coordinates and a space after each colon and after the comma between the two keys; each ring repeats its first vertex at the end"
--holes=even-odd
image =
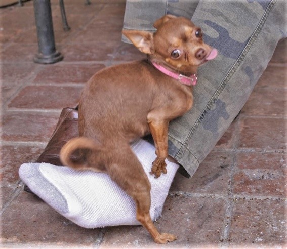
{"type": "MultiPolygon", "coordinates": [[[[155,179],[149,174],[156,157],[154,146],[140,139],[132,149],[151,183],[150,216],[154,221],[161,216],[178,165],[166,160],[168,173],[155,179]]],[[[107,174],[76,171],[49,163],[24,163],[19,175],[33,193],[79,226],[96,228],[140,224],[136,219],[134,200],[107,174]]]]}

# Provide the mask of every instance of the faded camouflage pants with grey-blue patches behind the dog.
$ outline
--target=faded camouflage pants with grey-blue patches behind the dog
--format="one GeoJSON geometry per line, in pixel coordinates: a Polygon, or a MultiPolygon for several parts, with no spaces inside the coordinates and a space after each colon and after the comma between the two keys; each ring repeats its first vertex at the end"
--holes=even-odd
{"type": "Polygon", "coordinates": [[[169,126],[169,154],[190,176],[249,98],[278,40],[286,37],[285,3],[127,0],[124,29],[154,31],[153,22],[165,14],[185,16],[219,51],[217,59],[199,68],[192,109],[169,126]]]}

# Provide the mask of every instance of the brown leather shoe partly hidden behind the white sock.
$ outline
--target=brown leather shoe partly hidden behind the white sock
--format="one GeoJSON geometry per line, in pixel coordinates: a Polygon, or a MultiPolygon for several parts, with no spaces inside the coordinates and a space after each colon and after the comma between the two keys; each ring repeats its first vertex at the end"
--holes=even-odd
{"type": "MultiPolygon", "coordinates": [[[[36,162],[47,162],[53,165],[62,165],[60,150],[70,139],[78,137],[78,111],[77,108],[64,108],[61,112],[56,129],[52,134],[45,150],[40,154],[36,162]]],[[[25,185],[24,190],[32,193],[25,185]]]]}

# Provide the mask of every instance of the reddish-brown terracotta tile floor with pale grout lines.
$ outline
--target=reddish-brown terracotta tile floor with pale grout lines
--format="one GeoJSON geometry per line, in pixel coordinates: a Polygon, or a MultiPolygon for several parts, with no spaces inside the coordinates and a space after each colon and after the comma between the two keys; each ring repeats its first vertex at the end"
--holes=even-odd
{"type": "MultiPolygon", "coordinates": [[[[57,48],[65,56],[53,65],[32,62],[32,2],[0,9],[3,247],[156,247],[141,226],[73,224],[24,192],[18,176],[20,164],[37,159],[61,109],[77,105],[96,71],[142,58],[120,41],[125,2],[92,2],[66,1],[71,30],[65,32],[58,1],[52,1],[57,48]]],[[[176,175],[156,221],[178,235],[168,247],[286,246],[286,45],[278,44],[249,101],[193,178],[176,175]]]]}

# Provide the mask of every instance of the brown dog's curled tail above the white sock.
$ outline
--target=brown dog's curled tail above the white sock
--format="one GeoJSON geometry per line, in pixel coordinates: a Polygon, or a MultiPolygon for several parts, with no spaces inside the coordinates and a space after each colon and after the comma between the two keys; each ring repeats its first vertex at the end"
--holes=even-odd
{"type": "Polygon", "coordinates": [[[82,160],[72,160],[72,154],[77,150],[83,149],[90,151],[98,151],[99,146],[92,139],[89,138],[72,138],[62,147],[60,151],[60,160],[63,165],[67,165],[74,169],[81,169],[87,167],[87,161],[83,161],[83,158],[81,158],[82,160]]]}

